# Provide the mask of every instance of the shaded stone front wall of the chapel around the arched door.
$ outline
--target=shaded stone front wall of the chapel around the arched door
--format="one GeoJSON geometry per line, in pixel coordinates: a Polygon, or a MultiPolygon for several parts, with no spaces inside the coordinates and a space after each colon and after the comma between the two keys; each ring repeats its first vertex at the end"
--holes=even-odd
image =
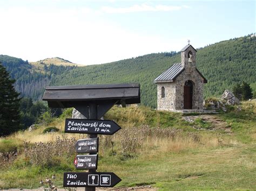
{"type": "Polygon", "coordinates": [[[186,67],[185,70],[176,78],[176,110],[184,109],[184,84],[187,80],[193,82],[192,109],[203,109],[204,95],[204,79],[197,70],[192,67],[186,67]]]}

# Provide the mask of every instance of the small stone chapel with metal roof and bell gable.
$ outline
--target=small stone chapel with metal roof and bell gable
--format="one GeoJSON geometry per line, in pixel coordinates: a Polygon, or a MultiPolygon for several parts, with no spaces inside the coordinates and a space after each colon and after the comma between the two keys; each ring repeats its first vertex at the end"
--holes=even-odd
{"type": "Polygon", "coordinates": [[[154,79],[158,110],[203,110],[203,87],[207,80],[196,67],[196,53],[188,41],[181,49],[181,63],[174,63],[154,79]]]}

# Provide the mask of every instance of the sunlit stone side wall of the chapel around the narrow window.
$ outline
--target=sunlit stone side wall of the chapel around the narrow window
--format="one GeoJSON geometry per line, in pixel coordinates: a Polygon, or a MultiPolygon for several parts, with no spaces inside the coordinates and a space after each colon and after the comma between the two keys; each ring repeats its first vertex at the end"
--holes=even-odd
{"type": "Polygon", "coordinates": [[[175,107],[175,82],[157,83],[157,109],[174,110],[175,107]],[[161,97],[161,88],[165,88],[165,97],[161,97]]]}

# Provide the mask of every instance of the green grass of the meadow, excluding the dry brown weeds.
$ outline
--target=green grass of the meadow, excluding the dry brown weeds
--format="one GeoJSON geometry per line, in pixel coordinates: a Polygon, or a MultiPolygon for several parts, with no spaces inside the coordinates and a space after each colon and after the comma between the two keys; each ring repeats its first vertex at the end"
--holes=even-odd
{"type": "MultiPolygon", "coordinates": [[[[203,121],[200,116],[194,123],[189,123],[183,121],[183,115],[178,113],[145,107],[114,107],[105,119],[113,119],[123,129],[114,136],[99,138],[98,172],[117,174],[122,179],[117,187],[151,185],[160,190],[253,190],[256,177],[256,103],[242,102],[241,107],[241,111],[235,106],[226,113],[212,114],[231,127],[230,133],[208,130],[213,124],[203,121]],[[193,129],[195,124],[203,129],[193,129]],[[152,135],[143,140],[135,153],[122,153],[122,132],[134,130],[133,126],[140,127],[139,132],[145,125],[152,129],[182,129],[183,132],[181,137],[174,139],[152,135]],[[191,140],[188,132],[199,133],[199,142],[191,140]],[[113,151],[110,144],[107,145],[110,140],[114,142],[113,151]]],[[[59,126],[58,123],[63,124],[63,119],[56,119],[50,125],[59,126]]],[[[41,132],[40,128],[31,133],[38,132],[41,132]]],[[[24,133],[32,137],[28,132],[24,133]]],[[[61,132],[55,133],[62,135],[61,132]]],[[[16,144],[15,136],[10,136],[1,140],[0,148],[6,146],[11,150],[16,144]]],[[[51,167],[36,166],[21,154],[16,161],[0,167],[0,188],[38,188],[39,181],[50,178],[52,174],[57,176],[54,185],[60,188],[63,172],[77,170],[72,157],[63,155],[58,161],[51,167]]]]}

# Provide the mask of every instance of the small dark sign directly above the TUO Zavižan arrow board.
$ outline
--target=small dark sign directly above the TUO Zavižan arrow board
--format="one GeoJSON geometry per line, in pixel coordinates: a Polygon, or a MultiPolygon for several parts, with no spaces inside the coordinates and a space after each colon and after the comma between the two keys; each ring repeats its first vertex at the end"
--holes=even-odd
{"type": "Polygon", "coordinates": [[[97,169],[98,154],[77,155],[74,164],[76,169],[97,169]]]}

